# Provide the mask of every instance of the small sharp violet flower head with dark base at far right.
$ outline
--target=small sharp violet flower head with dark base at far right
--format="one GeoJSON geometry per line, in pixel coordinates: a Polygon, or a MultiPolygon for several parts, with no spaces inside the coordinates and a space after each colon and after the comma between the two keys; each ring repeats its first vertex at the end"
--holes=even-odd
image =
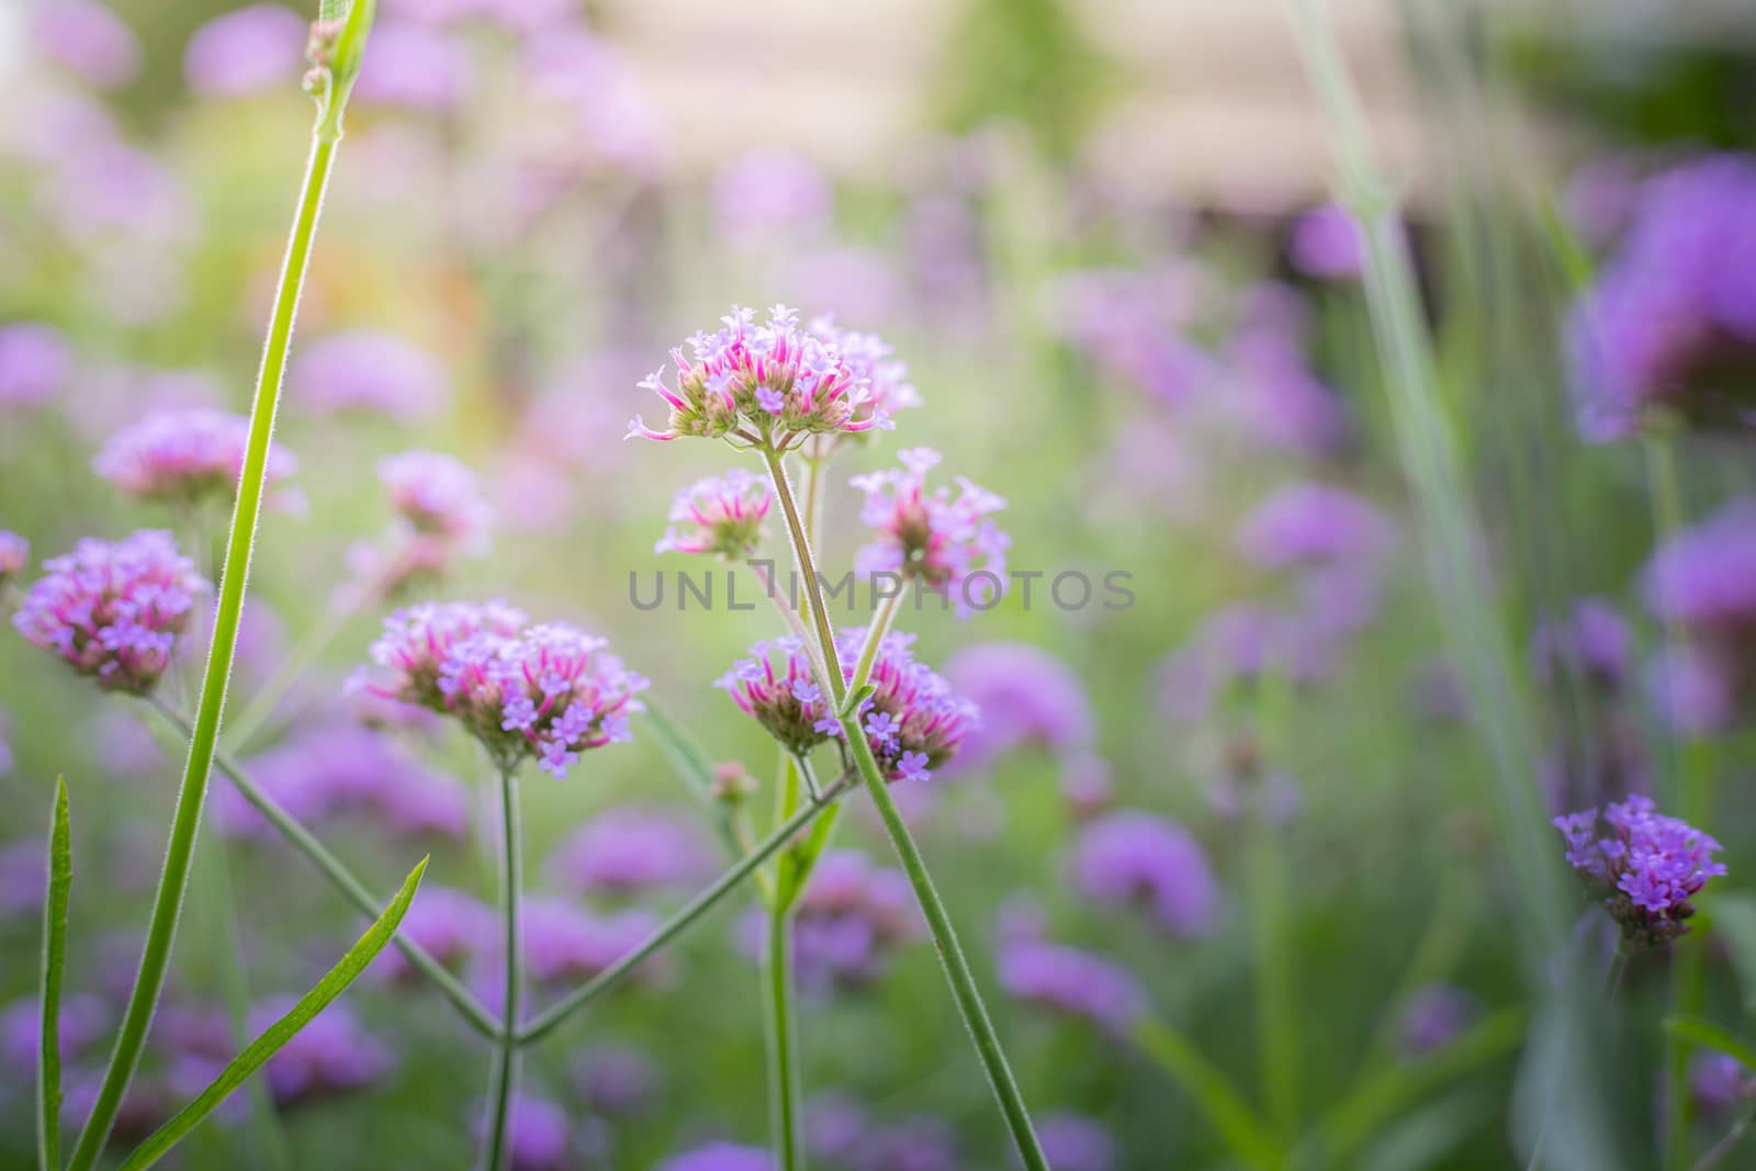
{"type": "Polygon", "coordinates": [[[1601,822],[1607,836],[1596,809],[1558,816],[1554,827],[1566,837],[1568,864],[1603,899],[1623,938],[1656,948],[1688,932],[1689,899],[1726,873],[1714,862],[1719,843],[1638,794],[1603,809],[1601,822]]]}

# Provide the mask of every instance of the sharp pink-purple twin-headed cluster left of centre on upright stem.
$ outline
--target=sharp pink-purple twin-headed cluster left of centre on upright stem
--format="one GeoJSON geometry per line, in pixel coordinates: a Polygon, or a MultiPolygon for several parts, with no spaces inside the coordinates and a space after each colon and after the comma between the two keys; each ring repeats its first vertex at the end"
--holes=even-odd
{"type": "Polygon", "coordinates": [[[581,751],[630,739],[641,711],[646,679],[604,646],[502,602],[428,602],[385,620],[367,686],[455,718],[500,769],[530,758],[564,778],[581,751]]]}

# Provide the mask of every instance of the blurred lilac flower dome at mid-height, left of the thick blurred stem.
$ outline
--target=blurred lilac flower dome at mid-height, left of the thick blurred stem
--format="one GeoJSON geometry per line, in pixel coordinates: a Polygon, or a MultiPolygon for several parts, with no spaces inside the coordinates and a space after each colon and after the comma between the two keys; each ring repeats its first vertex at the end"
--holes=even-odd
{"type": "Polygon", "coordinates": [[[1389,550],[1389,518],[1345,488],[1289,485],[1268,497],[1238,528],[1238,550],[1263,569],[1377,564],[1389,550]]]}

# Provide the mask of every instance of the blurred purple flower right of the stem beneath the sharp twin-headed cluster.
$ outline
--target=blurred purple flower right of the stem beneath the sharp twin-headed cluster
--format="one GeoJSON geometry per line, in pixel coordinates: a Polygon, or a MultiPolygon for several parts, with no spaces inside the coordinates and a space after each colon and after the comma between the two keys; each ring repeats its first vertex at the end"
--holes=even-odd
{"type": "Polygon", "coordinates": [[[687,888],[709,878],[713,844],[673,811],[616,806],[574,830],[550,855],[557,887],[583,894],[687,888]]]}

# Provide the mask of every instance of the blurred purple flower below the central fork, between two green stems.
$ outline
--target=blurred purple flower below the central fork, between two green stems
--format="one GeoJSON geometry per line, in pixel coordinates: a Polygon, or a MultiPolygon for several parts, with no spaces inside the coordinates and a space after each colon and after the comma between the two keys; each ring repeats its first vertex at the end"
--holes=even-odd
{"type": "MultiPolygon", "coordinates": [[[[766,916],[745,923],[743,943],[760,952],[766,916]]],[[[897,946],[920,936],[920,916],[901,871],[873,866],[855,850],[832,850],[817,862],[794,918],[799,987],[827,994],[880,978],[897,946]]]]}

